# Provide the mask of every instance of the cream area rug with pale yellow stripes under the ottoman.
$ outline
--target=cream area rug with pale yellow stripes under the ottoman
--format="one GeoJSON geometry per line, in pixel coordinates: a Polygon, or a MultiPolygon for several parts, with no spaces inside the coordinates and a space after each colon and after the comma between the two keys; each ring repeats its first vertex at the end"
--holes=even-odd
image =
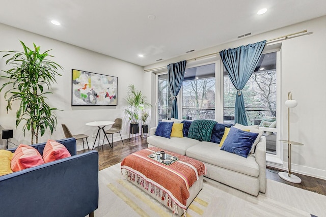
{"type": "MultiPolygon", "coordinates": [[[[326,196],[267,179],[265,194],[251,196],[204,178],[187,216],[326,216],[326,196]]],[[[99,171],[102,216],[177,216],[121,174],[120,164],[99,171]]]]}

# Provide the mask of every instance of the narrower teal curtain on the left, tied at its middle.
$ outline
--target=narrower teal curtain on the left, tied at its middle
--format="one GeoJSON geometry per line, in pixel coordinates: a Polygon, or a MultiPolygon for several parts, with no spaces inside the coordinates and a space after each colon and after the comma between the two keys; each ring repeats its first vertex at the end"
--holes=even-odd
{"type": "Polygon", "coordinates": [[[187,61],[168,65],[168,79],[173,94],[171,117],[178,119],[178,101],[177,96],[182,86],[185,65],[187,61]]]}

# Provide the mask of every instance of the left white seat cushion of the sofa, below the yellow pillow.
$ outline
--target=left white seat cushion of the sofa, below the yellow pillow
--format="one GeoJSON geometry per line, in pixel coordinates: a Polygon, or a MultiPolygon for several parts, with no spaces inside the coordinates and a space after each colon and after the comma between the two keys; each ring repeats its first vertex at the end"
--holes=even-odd
{"type": "Polygon", "coordinates": [[[187,137],[178,138],[171,137],[171,139],[160,136],[147,137],[147,143],[162,148],[164,150],[173,151],[182,155],[185,155],[187,148],[198,144],[200,141],[196,139],[190,139],[187,137]]]}

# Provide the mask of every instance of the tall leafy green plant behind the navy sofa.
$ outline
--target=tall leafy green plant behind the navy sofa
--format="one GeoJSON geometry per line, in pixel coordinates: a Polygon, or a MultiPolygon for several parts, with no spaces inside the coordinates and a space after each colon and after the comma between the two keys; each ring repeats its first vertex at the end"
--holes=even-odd
{"type": "Polygon", "coordinates": [[[53,111],[57,108],[50,107],[47,103],[47,94],[52,92],[45,90],[51,88],[51,83],[56,82],[56,76],[60,76],[58,69],[63,69],[59,64],[47,59],[53,57],[48,54],[47,50],[44,53],[40,52],[40,47],[34,43],[34,50],[26,47],[20,41],[23,52],[21,51],[0,51],[7,52],[3,57],[9,57],[6,65],[12,65],[9,70],[3,70],[6,75],[0,76],[9,79],[0,88],[2,91],[5,87],[9,89],[5,92],[7,101],[7,112],[12,110],[12,103],[20,101],[20,106],[16,111],[16,128],[23,121],[22,128],[25,135],[25,130],[31,131],[31,144],[38,143],[38,135],[44,135],[47,129],[51,134],[57,127],[57,116],[53,111]]]}

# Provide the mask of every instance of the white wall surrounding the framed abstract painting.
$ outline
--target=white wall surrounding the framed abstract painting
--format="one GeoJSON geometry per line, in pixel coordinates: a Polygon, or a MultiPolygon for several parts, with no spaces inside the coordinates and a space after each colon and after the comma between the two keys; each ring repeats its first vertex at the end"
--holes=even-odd
{"type": "MultiPolygon", "coordinates": [[[[49,54],[55,56],[52,60],[64,68],[64,71],[61,71],[62,76],[57,78],[58,83],[53,84],[54,94],[48,96],[49,104],[52,107],[63,110],[56,111],[58,128],[53,135],[46,133],[42,138],[39,138],[39,142],[45,142],[47,139],[56,140],[64,138],[61,123],[65,123],[72,134],[89,135],[89,144],[93,144],[95,138],[92,138],[92,135],[96,134],[97,128],[88,127],[85,123],[99,120],[113,121],[117,117],[123,117],[124,127],[121,134],[124,138],[129,137],[129,130],[127,129],[129,119],[123,112],[123,109],[126,107],[124,100],[126,88],[130,83],[133,83],[136,88],[143,89],[143,67],[0,24],[0,50],[22,50],[19,40],[23,41],[30,48],[33,47],[34,42],[37,46],[41,46],[41,51],[43,52],[48,49],[53,49],[49,52],[49,54]],[[118,77],[118,106],[71,106],[71,69],[118,77]]],[[[0,53],[1,57],[4,54],[0,53]]],[[[0,59],[1,70],[8,68],[5,66],[6,59],[0,59]]],[[[0,78],[0,85],[4,82],[5,80],[0,78]]],[[[30,144],[30,133],[26,132],[25,137],[22,134],[23,125],[21,124],[17,129],[15,127],[15,113],[19,104],[15,103],[13,110],[7,114],[6,103],[3,91],[0,93],[0,133],[2,133],[3,129],[14,129],[14,138],[10,139],[10,141],[17,145],[20,143],[30,144]]],[[[111,138],[109,139],[111,141],[111,138]]],[[[115,139],[120,140],[119,134],[114,134],[115,139]]],[[[3,148],[5,140],[0,140],[0,142],[0,148],[3,148]]],[[[80,149],[83,143],[78,141],[77,145],[77,149],[80,149]]]]}

